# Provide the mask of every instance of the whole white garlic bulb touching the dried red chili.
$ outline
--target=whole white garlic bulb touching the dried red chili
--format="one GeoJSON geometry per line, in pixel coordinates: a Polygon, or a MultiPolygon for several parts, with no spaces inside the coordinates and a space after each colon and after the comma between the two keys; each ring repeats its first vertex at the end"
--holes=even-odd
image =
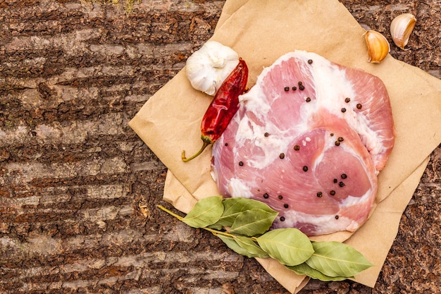
{"type": "Polygon", "coordinates": [[[237,63],[239,55],[233,49],[207,41],[187,59],[185,73],[194,89],[214,95],[237,63]]]}

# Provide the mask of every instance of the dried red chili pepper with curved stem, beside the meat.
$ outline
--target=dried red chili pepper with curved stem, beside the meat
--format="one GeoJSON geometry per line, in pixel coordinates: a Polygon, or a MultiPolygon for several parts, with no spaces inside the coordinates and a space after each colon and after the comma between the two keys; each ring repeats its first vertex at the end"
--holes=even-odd
{"type": "Polygon", "coordinates": [[[214,99],[206,110],[201,122],[201,139],[203,145],[199,151],[190,158],[185,157],[185,150],[182,151],[182,161],[190,161],[199,156],[204,149],[216,142],[221,137],[231,118],[239,109],[239,95],[247,87],[248,67],[243,59],[223,81],[221,87],[214,95],[214,99]]]}

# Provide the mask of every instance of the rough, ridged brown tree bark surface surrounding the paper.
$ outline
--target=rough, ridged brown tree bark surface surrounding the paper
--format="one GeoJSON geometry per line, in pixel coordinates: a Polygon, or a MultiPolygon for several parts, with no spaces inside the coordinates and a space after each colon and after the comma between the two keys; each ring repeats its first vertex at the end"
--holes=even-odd
{"type": "MultiPolygon", "coordinates": [[[[275,1],[276,2],[276,1],[275,1]]],[[[441,6],[342,1],[383,32],[418,18],[395,58],[440,78],[441,6]]],[[[156,209],[166,167],[128,127],[216,26],[222,0],[0,1],[0,293],[287,293],[254,259],[156,209]]],[[[441,293],[441,147],[374,289],[311,281],[301,293],[441,293]]]]}

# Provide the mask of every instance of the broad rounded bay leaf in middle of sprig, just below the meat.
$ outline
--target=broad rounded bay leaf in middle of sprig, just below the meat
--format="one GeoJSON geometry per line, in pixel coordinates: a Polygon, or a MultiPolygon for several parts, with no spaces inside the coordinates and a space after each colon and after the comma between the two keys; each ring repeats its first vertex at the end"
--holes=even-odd
{"type": "Polygon", "coordinates": [[[314,252],[309,238],[297,228],[276,228],[256,240],[269,256],[288,266],[305,262],[314,252]]]}

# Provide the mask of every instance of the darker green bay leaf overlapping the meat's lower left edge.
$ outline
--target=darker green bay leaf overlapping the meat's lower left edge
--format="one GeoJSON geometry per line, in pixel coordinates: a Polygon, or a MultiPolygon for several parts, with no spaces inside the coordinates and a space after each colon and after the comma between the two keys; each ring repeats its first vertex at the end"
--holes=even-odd
{"type": "Polygon", "coordinates": [[[262,209],[248,209],[236,216],[229,230],[230,233],[255,236],[269,230],[277,212],[266,212],[262,209]]]}

